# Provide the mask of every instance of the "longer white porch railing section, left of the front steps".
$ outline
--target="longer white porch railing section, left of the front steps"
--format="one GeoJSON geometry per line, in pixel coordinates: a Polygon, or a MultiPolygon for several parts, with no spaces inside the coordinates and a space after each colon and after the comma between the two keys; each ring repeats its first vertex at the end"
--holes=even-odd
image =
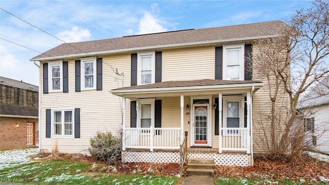
{"type": "Polygon", "coordinates": [[[131,149],[179,149],[181,128],[125,128],[123,139],[131,149]]]}

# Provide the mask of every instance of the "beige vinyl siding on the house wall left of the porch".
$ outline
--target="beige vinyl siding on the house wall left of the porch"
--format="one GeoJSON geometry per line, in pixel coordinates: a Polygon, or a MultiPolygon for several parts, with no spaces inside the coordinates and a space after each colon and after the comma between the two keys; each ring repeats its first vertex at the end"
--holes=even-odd
{"type": "MultiPolygon", "coordinates": [[[[112,95],[109,91],[122,87],[122,82],[116,79],[122,77],[115,75],[111,67],[104,63],[118,68],[119,72],[124,72],[125,84],[130,85],[130,54],[103,57],[103,90],[75,92],[75,60],[68,60],[69,93],[41,93],[41,149],[48,152],[57,144],[59,152],[84,153],[89,147],[89,139],[97,131],[111,131],[113,134],[118,134],[120,130],[121,98],[112,95]],[[51,138],[46,138],[45,119],[48,108],[80,108],[80,138],[56,138],[52,133],[51,138]]],[[[42,67],[41,74],[43,74],[42,67]]],[[[41,89],[43,89],[42,85],[43,78],[41,78],[41,89]]]]}

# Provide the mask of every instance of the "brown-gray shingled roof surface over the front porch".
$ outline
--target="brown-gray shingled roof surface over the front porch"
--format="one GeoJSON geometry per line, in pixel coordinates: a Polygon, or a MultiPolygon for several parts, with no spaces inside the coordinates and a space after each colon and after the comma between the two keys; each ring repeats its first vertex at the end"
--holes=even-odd
{"type": "Polygon", "coordinates": [[[204,79],[204,80],[187,80],[187,81],[168,81],[168,82],[159,82],[146,85],[136,85],[130,87],[121,87],[114,90],[129,90],[129,89],[145,89],[145,88],[170,88],[170,87],[190,87],[190,86],[205,86],[205,85],[229,85],[229,84],[246,84],[246,83],[262,83],[260,81],[252,80],[213,80],[213,79],[204,79]]]}

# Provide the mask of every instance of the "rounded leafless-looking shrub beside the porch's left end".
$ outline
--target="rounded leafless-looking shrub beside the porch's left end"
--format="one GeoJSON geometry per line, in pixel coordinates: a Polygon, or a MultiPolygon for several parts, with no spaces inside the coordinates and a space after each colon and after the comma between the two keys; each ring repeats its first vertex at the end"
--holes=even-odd
{"type": "Polygon", "coordinates": [[[88,152],[97,160],[106,161],[108,164],[114,164],[121,160],[121,142],[120,137],[112,135],[111,132],[97,132],[96,136],[90,138],[88,152]]]}

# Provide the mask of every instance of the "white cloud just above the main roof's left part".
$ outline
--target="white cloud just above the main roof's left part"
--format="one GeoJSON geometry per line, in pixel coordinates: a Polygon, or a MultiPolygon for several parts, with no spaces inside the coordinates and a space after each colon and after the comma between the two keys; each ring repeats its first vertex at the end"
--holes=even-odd
{"type": "Polygon", "coordinates": [[[71,30],[65,30],[57,33],[56,36],[61,40],[69,43],[87,41],[90,39],[92,34],[90,34],[88,29],[82,29],[75,26],[71,30]]]}

